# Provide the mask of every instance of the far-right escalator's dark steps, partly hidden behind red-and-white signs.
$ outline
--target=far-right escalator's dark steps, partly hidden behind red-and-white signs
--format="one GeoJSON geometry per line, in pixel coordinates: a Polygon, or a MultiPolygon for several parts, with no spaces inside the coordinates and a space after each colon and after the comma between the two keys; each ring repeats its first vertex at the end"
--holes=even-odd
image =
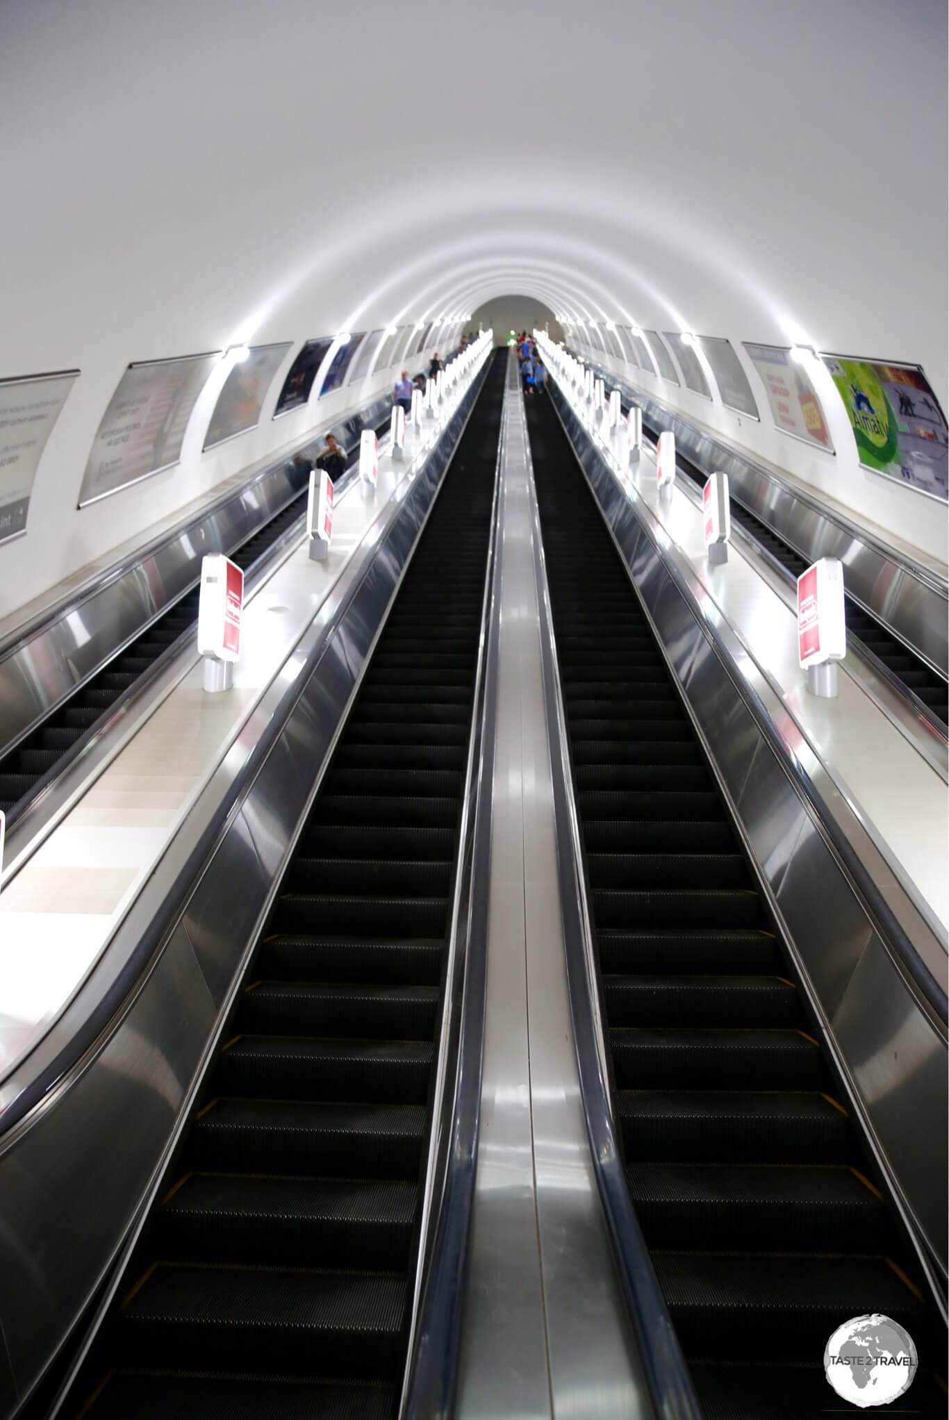
{"type": "MultiPolygon", "coordinates": [[[[624,405],[622,409],[625,416],[629,412],[629,406],[624,405]]],[[[648,435],[654,444],[658,443],[661,430],[649,423],[645,416],[642,432],[644,436],[648,435]]],[[[676,467],[696,487],[703,488],[707,483],[707,473],[678,450],[676,467]]],[[[807,558],[746,508],[734,494],[730,497],[730,510],[732,518],[744,528],[753,542],[788,574],[788,579],[796,582],[801,572],[807,571],[810,567],[807,558]]],[[[844,598],[844,618],[850,635],[857,638],[861,646],[869,652],[871,659],[878,662],[894,680],[898,680],[916,700],[922,701],[925,711],[945,733],[946,726],[949,726],[949,683],[945,677],[850,595],[844,598]]]]}

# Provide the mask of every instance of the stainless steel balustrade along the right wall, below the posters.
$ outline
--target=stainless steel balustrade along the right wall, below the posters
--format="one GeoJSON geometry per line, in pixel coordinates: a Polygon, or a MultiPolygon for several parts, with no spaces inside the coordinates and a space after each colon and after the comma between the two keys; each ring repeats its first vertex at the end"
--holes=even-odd
{"type": "MultiPolygon", "coordinates": [[[[600,368],[600,366],[597,366],[600,368]]],[[[942,676],[949,676],[949,588],[945,578],[912,562],[872,534],[848,523],[798,487],[783,483],[750,457],[705,433],[682,415],[628,385],[614,372],[602,373],[627,402],[662,429],[672,429],[676,447],[707,473],[727,473],[732,497],[814,562],[837,557],[847,572],[847,591],[942,676]]]]}

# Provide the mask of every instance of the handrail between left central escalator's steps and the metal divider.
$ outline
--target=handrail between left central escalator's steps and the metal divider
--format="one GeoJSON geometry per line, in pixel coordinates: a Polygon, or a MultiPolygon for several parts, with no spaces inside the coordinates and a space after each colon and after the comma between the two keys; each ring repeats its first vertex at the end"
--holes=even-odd
{"type": "Polygon", "coordinates": [[[402,1417],[449,1416],[457,1383],[484,1062],[487,893],[474,890],[474,885],[487,882],[492,856],[490,785],[497,738],[497,547],[503,457],[501,423],[445,973],[440,1076],[432,1110],[428,1191],[422,1210],[415,1305],[399,1407],[402,1417]],[[453,1088],[449,1079],[452,1068],[453,1088]]]}

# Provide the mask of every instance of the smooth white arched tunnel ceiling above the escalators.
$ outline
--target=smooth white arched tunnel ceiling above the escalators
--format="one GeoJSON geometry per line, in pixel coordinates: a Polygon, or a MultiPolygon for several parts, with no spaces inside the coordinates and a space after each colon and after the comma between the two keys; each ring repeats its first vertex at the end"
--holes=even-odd
{"type": "Polygon", "coordinates": [[[922,362],[942,0],[0,10],[0,375],[473,311],[922,362]]]}

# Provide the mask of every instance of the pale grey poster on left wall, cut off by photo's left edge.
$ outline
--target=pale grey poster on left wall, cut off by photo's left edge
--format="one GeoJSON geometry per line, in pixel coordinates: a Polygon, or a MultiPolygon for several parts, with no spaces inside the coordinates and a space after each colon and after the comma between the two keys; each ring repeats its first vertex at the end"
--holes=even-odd
{"type": "Polygon", "coordinates": [[[0,542],[27,525],[33,480],[78,369],[0,379],[0,542]]]}

